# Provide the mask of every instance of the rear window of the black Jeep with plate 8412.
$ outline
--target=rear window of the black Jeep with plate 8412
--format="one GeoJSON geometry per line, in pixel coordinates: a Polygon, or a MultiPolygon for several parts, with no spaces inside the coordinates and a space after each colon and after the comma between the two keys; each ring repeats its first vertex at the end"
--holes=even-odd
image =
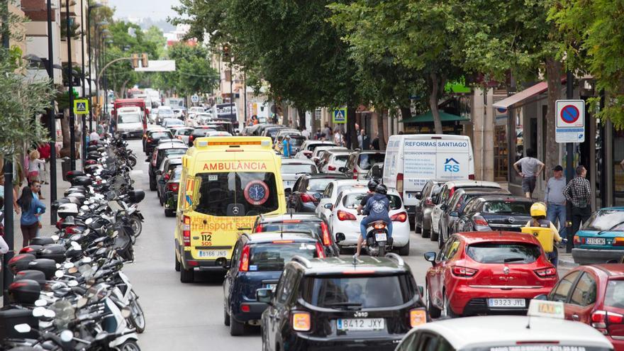
{"type": "Polygon", "coordinates": [[[399,306],[413,297],[408,286],[405,276],[317,277],[311,295],[304,299],[314,306],[336,309],[399,306]]]}

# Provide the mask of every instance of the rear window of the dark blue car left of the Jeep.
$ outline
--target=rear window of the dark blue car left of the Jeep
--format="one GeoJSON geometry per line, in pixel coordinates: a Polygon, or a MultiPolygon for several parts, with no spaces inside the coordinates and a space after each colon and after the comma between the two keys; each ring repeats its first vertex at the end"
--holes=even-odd
{"type": "MultiPolygon", "coordinates": [[[[287,241],[287,240],[285,240],[287,241]]],[[[251,245],[249,270],[257,272],[281,271],[284,263],[294,256],[316,257],[314,243],[266,243],[251,245]]]]}

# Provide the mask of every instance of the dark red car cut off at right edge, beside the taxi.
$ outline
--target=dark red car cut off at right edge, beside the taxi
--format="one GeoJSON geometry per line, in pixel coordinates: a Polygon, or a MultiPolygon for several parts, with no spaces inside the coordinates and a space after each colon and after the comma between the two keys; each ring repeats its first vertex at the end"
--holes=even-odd
{"type": "Polygon", "coordinates": [[[624,351],[624,264],[579,266],[566,274],[548,299],[564,303],[565,318],[591,325],[624,351]]]}

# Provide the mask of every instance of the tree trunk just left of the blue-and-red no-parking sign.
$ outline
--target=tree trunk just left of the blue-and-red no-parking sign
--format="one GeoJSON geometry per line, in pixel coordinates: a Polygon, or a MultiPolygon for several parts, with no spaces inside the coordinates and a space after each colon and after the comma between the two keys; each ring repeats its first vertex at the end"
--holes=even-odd
{"type": "Polygon", "coordinates": [[[561,98],[562,64],[555,57],[550,57],[546,60],[546,76],[548,83],[548,110],[546,113],[546,160],[544,160],[544,163],[546,165],[545,169],[552,169],[560,163],[559,144],[555,141],[557,125],[555,104],[561,98]]]}

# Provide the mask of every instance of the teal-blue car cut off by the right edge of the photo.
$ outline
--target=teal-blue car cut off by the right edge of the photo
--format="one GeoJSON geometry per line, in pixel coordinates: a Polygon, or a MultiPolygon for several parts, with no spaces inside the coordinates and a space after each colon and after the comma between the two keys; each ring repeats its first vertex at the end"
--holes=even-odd
{"type": "Polygon", "coordinates": [[[572,257],[578,264],[620,262],[624,256],[624,207],[602,208],[574,235],[572,257]]]}

